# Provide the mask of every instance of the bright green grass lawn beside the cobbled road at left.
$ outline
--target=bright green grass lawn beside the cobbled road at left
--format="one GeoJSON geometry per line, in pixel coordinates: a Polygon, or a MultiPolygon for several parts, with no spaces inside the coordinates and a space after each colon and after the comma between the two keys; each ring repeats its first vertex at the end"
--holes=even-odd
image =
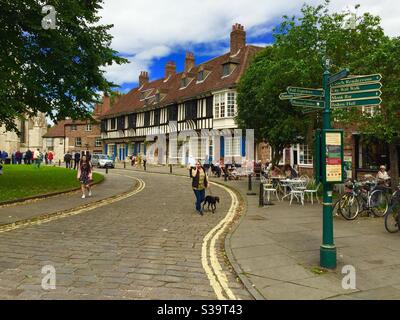
{"type": "MultiPolygon", "coordinates": [[[[3,165],[0,202],[78,188],[76,174],[75,170],[59,167],[37,169],[31,165],[3,165]]],[[[93,173],[94,182],[103,179],[101,174],[93,173]]]]}

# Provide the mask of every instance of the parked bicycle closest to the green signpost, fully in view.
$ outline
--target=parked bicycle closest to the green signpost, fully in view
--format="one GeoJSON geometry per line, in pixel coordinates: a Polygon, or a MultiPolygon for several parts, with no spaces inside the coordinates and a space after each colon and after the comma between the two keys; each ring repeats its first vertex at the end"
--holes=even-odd
{"type": "Polygon", "coordinates": [[[376,182],[350,180],[345,185],[345,194],[339,200],[339,212],[346,220],[354,220],[360,212],[369,211],[383,217],[389,209],[386,190],[376,182]]]}

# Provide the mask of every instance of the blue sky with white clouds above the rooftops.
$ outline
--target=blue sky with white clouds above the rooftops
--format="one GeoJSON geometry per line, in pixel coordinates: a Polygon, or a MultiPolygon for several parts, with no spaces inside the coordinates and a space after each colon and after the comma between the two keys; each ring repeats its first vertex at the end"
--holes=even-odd
{"type": "MultiPolygon", "coordinates": [[[[140,71],[151,80],[164,76],[167,61],[183,70],[185,52],[194,52],[196,64],[229,51],[232,25],[240,23],[247,43],[273,42],[272,30],[283,15],[299,16],[304,3],[322,0],[104,0],[101,23],[113,24],[112,48],[129,64],[105,68],[106,78],[127,93],[137,86],[140,71]]],[[[358,15],[371,12],[382,18],[390,36],[400,35],[399,0],[331,0],[335,11],[350,9],[358,15]],[[355,4],[361,7],[354,9],[355,4]]]]}

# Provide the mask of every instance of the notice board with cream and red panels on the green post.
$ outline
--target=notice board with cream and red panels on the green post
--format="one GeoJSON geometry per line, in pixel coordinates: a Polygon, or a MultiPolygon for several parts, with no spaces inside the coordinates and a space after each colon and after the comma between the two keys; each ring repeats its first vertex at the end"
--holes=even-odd
{"type": "Polygon", "coordinates": [[[327,183],[343,183],[343,130],[322,131],[322,175],[327,183]]]}

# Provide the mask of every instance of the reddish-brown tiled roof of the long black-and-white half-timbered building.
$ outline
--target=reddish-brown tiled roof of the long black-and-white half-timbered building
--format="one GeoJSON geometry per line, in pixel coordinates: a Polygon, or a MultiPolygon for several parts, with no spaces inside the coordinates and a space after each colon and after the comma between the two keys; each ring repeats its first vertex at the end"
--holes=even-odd
{"type": "Polygon", "coordinates": [[[165,106],[179,103],[209,94],[212,91],[235,86],[245,68],[248,66],[250,58],[260,50],[262,50],[261,47],[247,45],[235,56],[230,56],[230,53],[226,53],[195,66],[192,70],[189,70],[189,74],[192,75],[193,80],[184,89],[181,89],[183,72],[171,76],[168,80],[158,79],[148,82],[144,84],[142,88],[134,88],[126,95],[122,96],[110,110],[102,113],[101,118],[128,114],[146,106],[152,106],[154,108],[158,105],[165,106]],[[237,64],[237,66],[229,76],[223,77],[222,65],[230,61],[237,64]],[[197,83],[197,74],[202,66],[204,66],[206,70],[211,71],[211,73],[203,82],[197,83]],[[152,104],[149,103],[149,100],[146,101],[146,99],[143,99],[143,92],[146,92],[146,96],[153,96],[157,91],[161,92],[159,104],[152,104]]]}

